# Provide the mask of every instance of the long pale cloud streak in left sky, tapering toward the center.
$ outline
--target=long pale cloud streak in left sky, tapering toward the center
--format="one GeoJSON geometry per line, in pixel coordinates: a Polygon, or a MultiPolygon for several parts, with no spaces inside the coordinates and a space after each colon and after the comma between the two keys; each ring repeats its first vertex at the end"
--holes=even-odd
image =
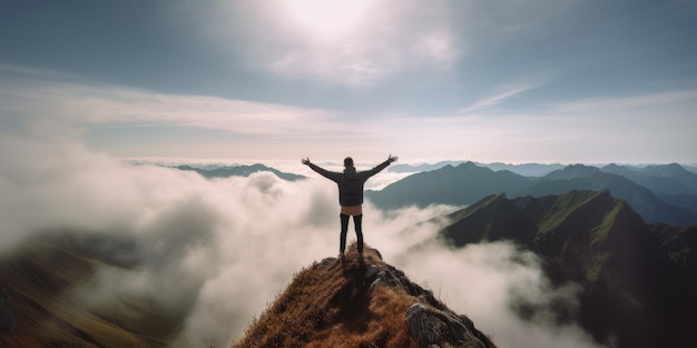
{"type": "Polygon", "coordinates": [[[257,136],[312,132],[330,111],[206,96],[175,96],[108,86],[24,81],[0,83],[3,109],[22,122],[52,120],[69,127],[175,126],[257,136]]]}

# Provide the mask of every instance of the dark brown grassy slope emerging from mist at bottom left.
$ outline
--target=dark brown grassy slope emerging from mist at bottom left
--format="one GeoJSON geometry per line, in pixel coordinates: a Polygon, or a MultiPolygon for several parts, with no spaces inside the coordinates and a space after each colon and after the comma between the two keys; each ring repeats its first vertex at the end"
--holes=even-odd
{"type": "Polygon", "coordinates": [[[143,299],[121,297],[91,307],[77,296],[99,269],[122,265],[86,252],[73,237],[35,236],[2,257],[0,288],[16,325],[0,331],[0,346],[167,347],[180,318],[164,316],[143,299]]]}

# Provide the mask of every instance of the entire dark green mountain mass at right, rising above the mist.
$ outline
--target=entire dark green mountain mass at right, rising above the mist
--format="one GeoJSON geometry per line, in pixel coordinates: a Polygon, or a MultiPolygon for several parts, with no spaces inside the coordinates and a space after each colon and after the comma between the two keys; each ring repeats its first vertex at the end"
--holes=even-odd
{"type": "MultiPolygon", "coordinates": [[[[558,308],[610,347],[697,347],[697,227],[646,225],[608,191],[489,196],[449,216],[455,247],[511,240],[542,257],[557,285],[581,285],[580,308],[558,308]]],[[[521,316],[534,307],[520,304],[521,316]]]]}

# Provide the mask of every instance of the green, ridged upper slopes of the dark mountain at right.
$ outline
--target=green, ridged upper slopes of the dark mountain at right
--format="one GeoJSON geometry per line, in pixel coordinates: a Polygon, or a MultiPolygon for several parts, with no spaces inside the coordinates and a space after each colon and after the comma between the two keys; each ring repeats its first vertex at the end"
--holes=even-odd
{"type": "Polygon", "coordinates": [[[609,238],[616,237],[620,222],[624,227],[644,226],[627,203],[607,191],[571,191],[512,200],[497,195],[450,218],[452,225],[443,233],[455,246],[512,239],[550,257],[557,267],[575,270],[573,280],[593,285],[602,280],[599,268],[609,261],[603,250],[611,242],[609,238]]]}

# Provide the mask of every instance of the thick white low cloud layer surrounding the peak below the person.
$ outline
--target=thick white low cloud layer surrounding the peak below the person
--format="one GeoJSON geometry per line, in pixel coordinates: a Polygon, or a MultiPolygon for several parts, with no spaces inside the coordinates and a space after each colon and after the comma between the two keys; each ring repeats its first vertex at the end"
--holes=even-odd
{"type": "MultiPolygon", "coordinates": [[[[338,252],[336,188],[318,176],[206,180],[130,166],[73,142],[0,142],[0,252],[56,227],[135,238],[134,248],[114,257],[138,268],[105,269],[76,292],[90,306],[118,294],[151,296],[157,308],[185,314],[176,347],[235,341],[295,272],[338,252]]],[[[552,288],[534,255],[508,243],[453,250],[432,240],[413,248],[438,228],[416,222],[452,209],[384,212],[369,203],[366,242],[500,347],[593,347],[578,327],[554,324],[549,305],[573,308],[578,289],[552,288]],[[521,301],[538,308],[531,320],[513,314],[521,301]]]]}

